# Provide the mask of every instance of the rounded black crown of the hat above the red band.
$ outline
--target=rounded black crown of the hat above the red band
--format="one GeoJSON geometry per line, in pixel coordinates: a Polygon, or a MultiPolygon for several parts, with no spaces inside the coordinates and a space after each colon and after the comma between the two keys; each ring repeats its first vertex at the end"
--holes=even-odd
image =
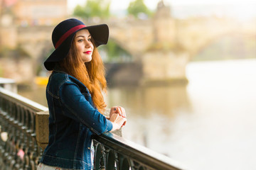
{"type": "Polygon", "coordinates": [[[52,41],[53,41],[53,46],[55,47],[56,43],[60,38],[68,32],[71,28],[74,28],[75,26],[80,26],[84,25],[85,23],[82,23],[82,21],[79,21],[78,19],[75,18],[70,18],[65,21],[62,21],[59,23],[53,30],[52,34],[52,41]]]}

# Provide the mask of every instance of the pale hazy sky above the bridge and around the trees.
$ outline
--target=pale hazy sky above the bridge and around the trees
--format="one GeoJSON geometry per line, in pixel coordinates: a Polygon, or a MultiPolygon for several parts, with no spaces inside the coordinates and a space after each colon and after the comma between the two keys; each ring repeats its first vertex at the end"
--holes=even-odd
{"type": "MultiPolygon", "coordinates": [[[[78,5],[84,5],[87,0],[68,0],[70,13],[78,5]]],[[[129,3],[134,0],[110,0],[112,13],[119,13],[127,9],[129,3]]],[[[154,10],[160,0],[144,0],[148,8],[154,10]]],[[[256,17],[256,0],[164,0],[165,4],[171,5],[174,17],[186,18],[187,16],[232,16],[241,20],[256,17]],[[197,5],[218,5],[201,8],[197,5]],[[235,5],[235,6],[233,6],[235,5]],[[189,6],[184,8],[183,6],[189,6]],[[191,6],[194,6],[191,8],[191,6]]],[[[122,14],[119,13],[121,16],[122,14]]]]}

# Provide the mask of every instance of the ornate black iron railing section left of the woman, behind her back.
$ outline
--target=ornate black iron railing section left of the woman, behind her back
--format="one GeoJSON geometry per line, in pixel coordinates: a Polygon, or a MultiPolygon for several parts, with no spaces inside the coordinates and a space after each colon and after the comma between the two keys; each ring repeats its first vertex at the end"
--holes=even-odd
{"type": "Polygon", "coordinates": [[[0,169],[36,169],[43,151],[36,142],[36,112],[47,110],[0,87],[0,169]]]}

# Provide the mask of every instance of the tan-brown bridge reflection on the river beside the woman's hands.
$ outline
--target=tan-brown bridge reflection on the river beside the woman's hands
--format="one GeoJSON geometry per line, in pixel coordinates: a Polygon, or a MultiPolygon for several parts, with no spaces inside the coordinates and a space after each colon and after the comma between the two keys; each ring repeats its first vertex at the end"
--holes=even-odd
{"type": "Polygon", "coordinates": [[[106,101],[108,106],[124,106],[133,117],[157,114],[174,118],[176,111],[190,109],[186,86],[112,88],[106,101]]]}

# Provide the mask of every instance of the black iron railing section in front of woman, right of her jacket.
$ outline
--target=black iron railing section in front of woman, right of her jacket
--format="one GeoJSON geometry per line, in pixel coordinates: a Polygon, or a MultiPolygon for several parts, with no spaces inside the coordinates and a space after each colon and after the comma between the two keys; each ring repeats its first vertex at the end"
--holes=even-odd
{"type": "Polygon", "coordinates": [[[110,132],[94,136],[95,169],[178,170],[178,162],[110,132]]]}

